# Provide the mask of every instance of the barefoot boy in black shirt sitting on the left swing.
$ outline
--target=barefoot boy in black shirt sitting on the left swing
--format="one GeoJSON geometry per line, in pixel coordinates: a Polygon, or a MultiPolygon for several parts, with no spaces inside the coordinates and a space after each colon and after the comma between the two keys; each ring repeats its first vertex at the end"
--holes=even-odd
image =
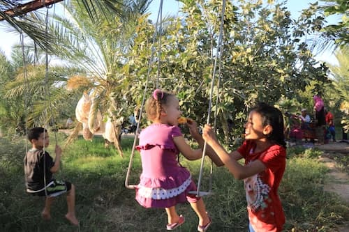
{"type": "Polygon", "coordinates": [[[49,137],[47,130],[43,127],[34,127],[28,132],[28,139],[32,148],[24,157],[24,175],[27,192],[38,196],[46,196],[45,208],[41,212],[43,219],[51,219],[50,210],[54,196],[67,192],[66,201],[68,213],[66,219],[77,226],[79,222],[75,217],[75,186],[68,181],[59,181],[52,178],[52,173],[59,171],[61,160],[61,148],[56,145],[54,152],[56,158],[53,161],[47,151],[49,137]]]}

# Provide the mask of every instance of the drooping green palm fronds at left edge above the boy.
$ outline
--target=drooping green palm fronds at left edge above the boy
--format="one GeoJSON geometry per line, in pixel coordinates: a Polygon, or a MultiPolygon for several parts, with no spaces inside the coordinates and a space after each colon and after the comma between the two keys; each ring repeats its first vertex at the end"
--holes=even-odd
{"type": "Polygon", "coordinates": [[[18,48],[13,50],[12,61],[3,54],[0,58],[2,127],[16,127],[17,132],[24,132],[26,127],[48,125],[59,116],[68,118],[72,114],[71,102],[77,95],[66,91],[66,80],[81,70],[50,65],[50,72],[46,72],[43,59],[36,61],[27,50],[24,51],[27,64],[23,65],[22,51],[18,48]]]}

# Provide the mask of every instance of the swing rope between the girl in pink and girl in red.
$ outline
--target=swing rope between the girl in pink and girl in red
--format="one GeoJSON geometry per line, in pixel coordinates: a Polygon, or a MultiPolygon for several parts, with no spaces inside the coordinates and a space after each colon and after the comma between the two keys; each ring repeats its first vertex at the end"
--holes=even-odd
{"type": "MultiPolygon", "coordinates": [[[[214,79],[216,77],[216,66],[217,66],[218,56],[219,56],[218,87],[219,87],[220,79],[221,79],[220,76],[221,76],[221,61],[222,61],[224,13],[225,13],[225,0],[223,0],[223,3],[222,3],[221,26],[219,28],[219,37],[218,37],[218,51],[217,51],[216,57],[214,59],[214,68],[213,68],[213,71],[212,71],[211,91],[209,93],[209,109],[207,111],[207,124],[209,124],[209,119],[211,117],[212,98],[213,98],[213,92],[214,92],[214,79]]],[[[218,102],[218,91],[219,90],[217,88],[216,104],[218,102]]],[[[215,112],[215,114],[214,114],[214,125],[216,125],[216,115],[217,115],[217,112],[215,112]]],[[[201,185],[201,181],[202,181],[202,171],[203,171],[204,162],[205,162],[206,150],[207,150],[207,143],[205,141],[204,148],[202,149],[202,158],[201,158],[200,173],[199,173],[199,180],[198,180],[198,189],[196,191],[194,191],[196,193],[196,196],[198,196],[198,197],[211,194],[211,183],[212,183],[211,177],[212,177],[212,175],[210,175],[210,187],[209,187],[210,189],[209,189],[209,192],[200,192],[200,185],[201,185]]],[[[212,170],[213,170],[213,163],[211,162],[211,171],[210,171],[211,174],[212,174],[212,170]]]]}

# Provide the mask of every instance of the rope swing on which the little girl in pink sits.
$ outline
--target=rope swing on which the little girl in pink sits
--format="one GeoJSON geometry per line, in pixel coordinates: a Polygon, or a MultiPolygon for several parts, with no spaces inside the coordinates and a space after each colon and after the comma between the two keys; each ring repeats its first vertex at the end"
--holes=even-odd
{"type": "MultiPolygon", "coordinates": [[[[161,0],[160,7],[159,7],[158,18],[159,18],[159,15],[162,14],[162,4],[163,4],[163,1],[161,0]]],[[[215,76],[216,76],[216,64],[217,64],[217,59],[218,59],[218,53],[219,53],[219,68],[218,68],[219,71],[218,71],[217,95],[218,95],[218,90],[219,90],[219,85],[220,85],[224,13],[225,13],[225,0],[223,0],[223,4],[222,4],[221,26],[220,26],[219,37],[218,37],[218,52],[217,52],[217,55],[216,55],[215,60],[214,60],[214,69],[213,69],[212,79],[211,79],[211,92],[210,92],[210,96],[209,96],[209,109],[208,109],[208,115],[207,115],[207,124],[209,124],[209,118],[211,116],[212,95],[213,95],[213,91],[214,91],[214,79],[215,79],[215,76]]],[[[161,19],[161,17],[160,17],[160,19],[161,19]]],[[[157,24],[158,24],[158,20],[156,21],[156,25],[157,24]]],[[[157,31],[155,31],[155,33],[156,32],[157,31]]],[[[155,39],[155,35],[154,35],[154,39],[155,39]]],[[[161,47],[161,23],[160,23],[159,47],[161,47]]],[[[159,73],[160,73],[160,54],[161,53],[159,51],[158,52],[159,56],[158,56],[158,75],[157,75],[157,77],[159,77],[159,73]]],[[[144,107],[145,95],[147,93],[147,86],[148,86],[148,81],[149,81],[149,73],[150,73],[150,70],[151,70],[150,66],[151,66],[151,61],[153,60],[153,55],[154,55],[154,41],[153,41],[153,47],[152,47],[152,50],[151,50],[151,59],[149,61],[149,68],[148,68],[148,73],[147,73],[147,82],[145,84],[144,93],[143,93],[143,96],[142,96],[142,105],[140,107],[140,112],[142,112],[142,109],[144,107]]],[[[156,82],[156,88],[158,88],[158,79],[157,79],[157,82],[156,82]]],[[[218,98],[216,99],[216,105],[218,105],[218,98]]],[[[214,115],[214,127],[216,126],[216,114],[217,114],[217,112],[215,112],[215,115],[214,115]]],[[[140,127],[141,117],[142,117],[142,114],[140,114],[138,116],[138,124],[137,124],[137,129],[136,129],[137,132],[138,132],[139,127],[140,127]]],[[[186,121],[186,118],[179,118],[179,119],[180,119],[179,123],[184,123],[186,121]]],[[[136,185],[129,185],[128,184],[128,180],[129,180],[130,173],[131,173],[131,167],[132,167],[132,163],[133,163],[133,157],[134,157],[134,153],[135,153],[136,143],[137,143],[137,136],[135,136],[135,139],[133,141],[133,148],[132,148],[132,152],[131,152],[130,162],[128,164],[128,169],[127,169],[127,173],[126,173],[125,187],[128,188],[128,189],[135,189],[135,187],[136,187],[136,185]]],[[[204,165],[204,161],[205,161],[206,148],[207,148],[207,144],[206,144],[206,141],[205,141],[204,148],[203,148],[203,151],[202,151],[202,159],[201,159],[201,165],[200,165],[200,174],[199,174],[199,180],[198,180],[198,185],[197,185],[198,189],[197,189],[197,191],[189,192],[191,194],[195,194],[198,197],[208,196],[208,195],[212,194],[212,192],[211,192],[211,188],[212,188],[211,187],[212,186],[212,173],[213,173],[213,162],[212,161],[211,161],[211,169],[210,169],[209,192],[202,192],[202,191],[200,191],[200,185],[201,185],[201,180],[202,180],[202,171],[203,171],[203,165],[204,165]]]]}

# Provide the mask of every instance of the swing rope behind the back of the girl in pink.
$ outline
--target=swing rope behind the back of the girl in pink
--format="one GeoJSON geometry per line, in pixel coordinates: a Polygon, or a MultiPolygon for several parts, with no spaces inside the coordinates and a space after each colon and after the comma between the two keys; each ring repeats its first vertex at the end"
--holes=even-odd
{"type": "MultiPolygon", "coordinates": [[[[152,46],[151,46],[151,55],[150,55],[150,59],[149,59],[149,65],[148,65],[148,71],[147,71],[147,79],[145,82],[145,86],[144,86],[144,91],[143,91],[143,95],[142,95],[142,104],[140,106],[140,114],[138,115],[138,122],[137,122],[137,127],[135,129],[135,139],[133,140],[133,146],[132,146],[132,151],[131,151],[131,155],[130,155],[130,161],[128,163],[128,169],[127,169],[127,173],[126,173],[126,178],[125,178],[125,187],[130,189],[130,190],[134,190],[136,185],[129,185],[128,184],[128,180],[130,178],[130,174],[131,174],[131,167],[133,164],[133,157],[135,156],[135,146],[137,144],[138,141],[138,131],[140,130],[140,120],[142,119],[142,111],[143,111],[143,107],[144,107],[144,103],[147,97],[147,90],[148,90],[148,83],[149,83],[149,77],[150,77],[150,72],[151,72],[151,65],[153,64],[154,61],[154,53],[155,53],[155,40],[156,40],[156,35],[159,35],[159,48],[158,50],[161,50],[161,33],[162,33],[162,11],[163,11],[163,0],[160,1],[160,6],[159,6],[159,10],[158,10],[158,17],[156,20],[156,29],[154,31],[154,37],[153,37],[153,42],[152,42],[152,46]],[[158,26],[159,24],[159,18],[160,18],[160,26],[158,26]]],[[[160,59],[161,59],[161,52],[158,52],[158,72],[157,72],[157,79],[156,79],[156,88],[158,88],[158,79],[160,77],[160,59]]]]}

